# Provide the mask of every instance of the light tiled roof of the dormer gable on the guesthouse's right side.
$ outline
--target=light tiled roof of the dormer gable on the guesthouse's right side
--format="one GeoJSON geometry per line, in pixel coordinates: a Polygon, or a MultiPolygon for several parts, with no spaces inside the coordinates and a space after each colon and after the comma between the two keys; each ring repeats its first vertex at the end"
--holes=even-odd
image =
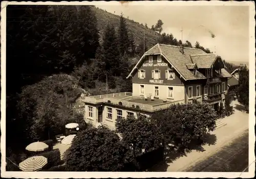
{"type": "Polygon", "coordinates": [[[197,63],[197,66],[199,69],[208,69],[214,63],[217,55],[199,54],[199,55],[190,55],[190,57],[194,63],[197,63]]]}

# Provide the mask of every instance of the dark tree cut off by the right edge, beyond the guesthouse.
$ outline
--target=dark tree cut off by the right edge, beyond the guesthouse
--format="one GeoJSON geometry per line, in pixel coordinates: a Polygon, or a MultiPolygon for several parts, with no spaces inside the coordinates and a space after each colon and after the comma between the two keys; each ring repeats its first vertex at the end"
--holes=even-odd
{"type": "Polygon", "coordinates": [[[239,87],[238,87],[238,101],[245,105],[245,109],[249,110],[249,69],[246,65],[239,66],[239,87]]]}

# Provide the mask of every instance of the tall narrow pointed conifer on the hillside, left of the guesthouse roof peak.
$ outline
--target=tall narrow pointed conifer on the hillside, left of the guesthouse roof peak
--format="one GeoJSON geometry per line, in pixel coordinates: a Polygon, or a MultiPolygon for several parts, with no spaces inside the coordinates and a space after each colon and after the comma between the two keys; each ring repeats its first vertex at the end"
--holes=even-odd
{"type": "Polygon", "coordinates": [[[120,55],[124,55],[130,47],[130,40],[125,19],[123,15],[120,16],[120,25],[118,29],[118,49],[120,55]]]}

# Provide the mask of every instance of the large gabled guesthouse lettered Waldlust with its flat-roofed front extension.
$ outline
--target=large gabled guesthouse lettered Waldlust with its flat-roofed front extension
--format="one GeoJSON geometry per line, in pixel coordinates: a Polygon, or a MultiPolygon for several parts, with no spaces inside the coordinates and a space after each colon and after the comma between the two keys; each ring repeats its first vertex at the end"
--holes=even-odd
{"type": "Polygon", "coordinates": [[[227,80],[232,77],[220,56],[201,49],[157,43],[145,52],[127,78],[133,93],[86,97],[85,120],[115,128],[115,120],[150,116],[172,104],[207,102],[217,108],[225,102],[227,80]]]}

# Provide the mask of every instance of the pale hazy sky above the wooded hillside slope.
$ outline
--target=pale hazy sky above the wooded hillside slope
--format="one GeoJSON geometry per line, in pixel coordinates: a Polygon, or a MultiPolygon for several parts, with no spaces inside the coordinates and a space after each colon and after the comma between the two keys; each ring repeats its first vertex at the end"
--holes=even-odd
{"type": "MultiPolygon", "coordinates": [[[[132,3],[96,5],[110,13],[134,21],[155,25],[163,21],[163,32],[172,33],[178,40],[190,41],[220,55],[228,61],[249,61],[248,6],[141,6],[132,3]],[[215,38],[211,37],[211,33],[215,38]]],[[[162,33],[163,33],[162,32],[162,33]]]]}

